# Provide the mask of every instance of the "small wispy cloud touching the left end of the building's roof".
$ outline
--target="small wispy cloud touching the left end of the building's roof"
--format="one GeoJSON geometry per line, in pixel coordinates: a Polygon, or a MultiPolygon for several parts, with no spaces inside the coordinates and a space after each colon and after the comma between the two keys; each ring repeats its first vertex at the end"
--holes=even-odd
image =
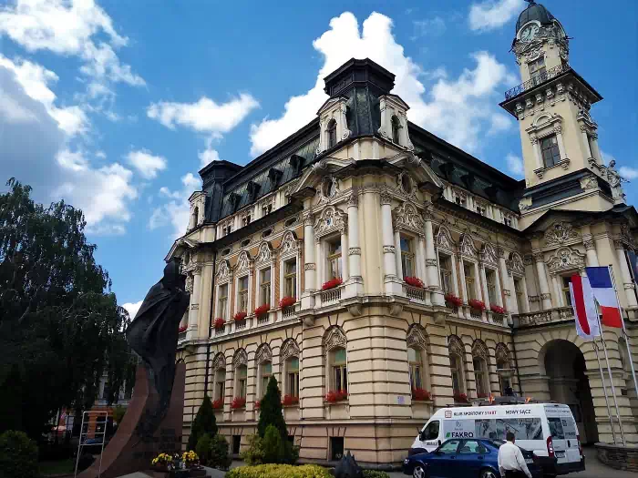
{"type": "Polygon", "coordinates": [[[192,173],[181,178],[183,188],[179,191],[171,191],[169,188],[160,188],[160,195],[170,198],[170,201],[153,209],[149,219],[149,229],[158,229],[172,226],[172,239],[177,239],[186,232],[189,224],[190,204],[189,197],[193,191],[201,189],[201,180],[192,173]]]}

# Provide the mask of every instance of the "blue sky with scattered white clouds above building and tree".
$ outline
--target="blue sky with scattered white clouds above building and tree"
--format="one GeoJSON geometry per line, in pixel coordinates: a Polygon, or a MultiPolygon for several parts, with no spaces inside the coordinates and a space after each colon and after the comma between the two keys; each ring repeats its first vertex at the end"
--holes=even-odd
{"type": "MultiPolygon", "coordinates": [[[[571,66],[605,98],[592,117],[635,203],[638,6],[544,5],[573,38],[571,66]]],[[[201,166],[245,164],[304,126],[324,101],[321,78],[352,56],[396,74],[412,121],[521,178],[518,126],[498,103],[520,83],[509,46],[525,6],[0,1],[0,179],[82,208],[134,311],[183,232],[201,166]]]]}

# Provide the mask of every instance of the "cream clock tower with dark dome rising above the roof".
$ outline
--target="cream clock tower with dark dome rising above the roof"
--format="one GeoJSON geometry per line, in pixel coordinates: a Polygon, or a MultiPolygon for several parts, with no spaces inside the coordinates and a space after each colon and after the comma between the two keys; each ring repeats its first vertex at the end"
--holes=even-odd
{"type": "Polygon", "coordinates": [[[590,109],[601,95],[570,65],[570,38],[534,0],[520,14],[511,51],[522,83],[500,106],[520,127],[525,193],[523,225],[550,208],[604,211],[624,202],[620,177],[607,168],[590,109]]]}

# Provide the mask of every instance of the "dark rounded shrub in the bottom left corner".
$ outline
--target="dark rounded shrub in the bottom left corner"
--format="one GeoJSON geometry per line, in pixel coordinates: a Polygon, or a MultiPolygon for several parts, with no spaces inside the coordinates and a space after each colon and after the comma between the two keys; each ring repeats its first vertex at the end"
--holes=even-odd
{"type": "Polygon", "coordinates": [[[0,475],[11,478],[37,476],[37,445],[25,432],[7,430],[0,435],[0,475]]]}

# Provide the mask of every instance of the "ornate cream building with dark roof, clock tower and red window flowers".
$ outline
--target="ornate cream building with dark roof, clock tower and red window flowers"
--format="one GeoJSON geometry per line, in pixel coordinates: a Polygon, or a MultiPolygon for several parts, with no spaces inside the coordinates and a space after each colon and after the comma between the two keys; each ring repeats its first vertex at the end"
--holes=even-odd
{"type": "MultiPolygon", "coordinates": [[[[191,292],[184,440],[208,393],[238,453],[274,375],[306,460],[398,463],[437,408],[509,386],[570,404],[582,442],[612,442],[569,281],[611,264],[637,349],[638,216],[603,164],[602,97],[569,64],[561,23],[531,2],[512,51],[523,83],[500,106],[520,124],[524,181],[410,123],[369,59],[326,76],[317,117],[259,158],[201,169],[166,258],[191,292]]],[[[635,444],[630,358],[618,330],[604,337],[635,444]]]]}

